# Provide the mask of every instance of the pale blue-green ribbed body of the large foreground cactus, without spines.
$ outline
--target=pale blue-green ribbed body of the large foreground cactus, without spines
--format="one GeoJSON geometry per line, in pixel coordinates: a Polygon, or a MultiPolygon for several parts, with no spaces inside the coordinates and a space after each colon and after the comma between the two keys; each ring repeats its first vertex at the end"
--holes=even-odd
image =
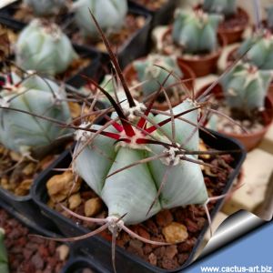
{"type": "MultiPolygon", "coordinates": [[[[175,113],[192,109],[194,103],[184,101],[174,108],[175,113]]],[[[197,125],[197,110],[183,116],[197,125]]],[[[166,116],[151,116],[154,121],[165,119],[166,116]]],[[[136,120],[137,122],[137,120],[136,120]]],[[[198,131],[190,137],[196,126],[177,120],[176,141],[188,150],[198,150],[198,131]],[[187,139],[189,137],[189,139],[187,139]]],[[[93,126],[99,129],[101,126],[93,126]]],[[[167,134],[171,135],[171,125],[163,126],[167,134]]],[[[109,131],[109,129],[107,129],[109,131]]],[[[116,132],[116,129],[110,130],[116,132]]],[[[92,134],[87,132],[77,134],[75,154],[85,145],[85,141],[92,134]],[[86,138],[87,136],[87,138],[86,138]]],[[[159,140],[168,142],[167,136],[160,132],[154,133],[159,140]]],[[[108,207],[109,217],[122,217],[125,224],[136,224],[155,215],[163,208],[186,206],[188,204],[205,204],[207,189],[201,167],[197,164],[181,160],[174,155],[174,167],[170,167],[166,187],[147,215],[148,209],[157,196],[157,188],[162,182],[164,172],[168,167],[167,159],[158,159],[151,163],[144,163],[123,170],[114,176],[109,176],[121,167],[135,163],[140,159],[164,152],[165,148],[153,145],[115,145],[115,140],[106,136],[96,136],[92,146],[85,147],[76,157],[74,167],[76,173],[83,177],[89,187],[102,197],[108,207]]],[[[175,151],[174,151],[175,152],[175,151]]],[[[194,159],[195,157],[190,157],[194,159]]]]}

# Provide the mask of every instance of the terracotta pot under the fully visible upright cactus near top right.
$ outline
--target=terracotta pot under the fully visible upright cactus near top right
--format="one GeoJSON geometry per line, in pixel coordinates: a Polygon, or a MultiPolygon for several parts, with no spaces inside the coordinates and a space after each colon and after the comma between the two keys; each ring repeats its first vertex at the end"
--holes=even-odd
{"type": "MultiPolygon", "coordinates": [[[[162,36],[162,40],[167,40],[167,36],[171,35],[171,30],[171,27],[167,29],[167,32],[162,36]]],[[[218,58],[222,54],[223,47],[227,45],[226,38],[223,35],[218,35],[218,43],[221,45],[221,47],[217,50],[217,52],[207,54],[206,56],[178,56],[178,65],[189,66],[194,71],[196,76],[207,76],[208,74],[216,72],[218,58]]],[[[173,52],[170,52],[167,50],[167,48],[163,49],[163,53],[166,55],[173,55],[173,52]]]]}

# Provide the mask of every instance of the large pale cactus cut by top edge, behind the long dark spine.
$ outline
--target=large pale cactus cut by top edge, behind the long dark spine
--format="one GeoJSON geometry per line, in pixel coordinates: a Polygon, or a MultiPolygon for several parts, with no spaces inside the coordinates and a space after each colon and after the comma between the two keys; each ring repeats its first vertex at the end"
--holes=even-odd
{"type": "Polygon", "coordinates": [[[110,34],[124,25],[128,7],[126,0],[77,0],[73,9],[79,29],[84,35],[96,40],[98,32],[91,20],[89,9],[96,16],[103,31],[110,34]]]}

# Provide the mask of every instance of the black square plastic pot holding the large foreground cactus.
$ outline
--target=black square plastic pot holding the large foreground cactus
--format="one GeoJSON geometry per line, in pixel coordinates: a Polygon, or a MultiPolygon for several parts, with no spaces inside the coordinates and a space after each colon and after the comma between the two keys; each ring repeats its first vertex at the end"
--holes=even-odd
{"type": "MultiPolygon", "coordinates": [[[[234,154],[234,162],[233,162],[233,171],[230,173],[228,177],[227,186],[225,187],[222,194],[227,193],[229,188],[232,186],[232,182],[238,176],[239,169],[246,157],[246,151],[244,148],[238,143],[237,140],[232,138],[228,138],[226,136],[220,135],[218,133],[213,132],[213,135],[210,136],[204,132],[200,132],[202,139],[205,143],[211,147],[216,148],[218,150],[238,150],[238,153],[234,154]]],[[[53,170],[55,167],[68,167],[71,163],[71,156],[69,153],[64,153],[61,157],[59,157],[56,162],[50,166],[44,173],[41,174],[40,177],[36,180],[34,187],[31,189],[31,194],[35,203],[41,208],[43,214],[50,217],[55,223],[56,226],[63,232],[66,237],[73,237],[82,234],[86,234],[89,230],[85,227],[81,227],[76,225],[72,220],[62,216],[57,213],[55,210],[46,206],[46,202],[48,200],[48,195],[45,188],[46,181],[56,175],[56,171],[53,170]]],[[[223,200],[218,200],[216,206],[214,207],[211,217],[215,217],[217,211],[222,206],[223,200]]],[[[127,253],[122,248],[116,248],[116,268],[117,272],[179,272],[183,268],[186,268],[192,261],[197,252],[197,249],[200,247],[200,244],[207,232],[208,225],[203,228],[199,237],[197,238],[197,244],[191,252],[190,257],[187,262],[181,267],[177,268],[177,270],[167,271],[161,268],[153,267],[144,260],[133,256],[132,254],[127,253]]],[[[100,237],[88,238],[84,241],[80,241],[76,244],[78,248],[82,250],[83,253],[87,253],[90,257],[96,258],[98,261],[106,265],[106,268],[112,271],[111,264],[111,248],[110,243],[100,237]]]]}

